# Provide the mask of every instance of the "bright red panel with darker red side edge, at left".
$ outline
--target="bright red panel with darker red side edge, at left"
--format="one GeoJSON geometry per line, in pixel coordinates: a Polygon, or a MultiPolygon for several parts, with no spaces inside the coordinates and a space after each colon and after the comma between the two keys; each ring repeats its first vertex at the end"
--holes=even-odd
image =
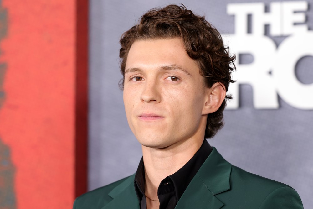
{"type": "Polygon", "coordinates": [[[18,209],[71,208],[86,190],[88,7],[76,36],[76,2],[2,1],[8,31],[0,45],[7,64],[0,136],[16,169],[18,209]]]}

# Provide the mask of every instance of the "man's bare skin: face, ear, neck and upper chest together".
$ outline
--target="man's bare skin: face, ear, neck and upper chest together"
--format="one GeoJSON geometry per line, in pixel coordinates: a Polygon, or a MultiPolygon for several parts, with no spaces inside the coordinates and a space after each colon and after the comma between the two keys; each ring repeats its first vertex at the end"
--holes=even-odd
{"type": "Polygon", "coordinates": [[[158,200],[160,182],[198,151],[208,114],[218,110],[225,95],[220,83],[205,86],[181,38],[132,44],[123,99],[129,126],[142,145],[147,208],[159,208],[152,200],[158,200]]]}

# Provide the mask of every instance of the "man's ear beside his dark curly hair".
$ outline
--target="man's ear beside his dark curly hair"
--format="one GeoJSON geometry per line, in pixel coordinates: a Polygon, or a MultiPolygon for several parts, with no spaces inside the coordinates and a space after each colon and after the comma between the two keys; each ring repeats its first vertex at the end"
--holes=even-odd
{"type": "Polygon", "coordinates": [[[205,101],[202,115],[213,113],[218,110],[226,97],[226,89],[222,83],[214,83],[211,88],[205,90],[205,101]]]}

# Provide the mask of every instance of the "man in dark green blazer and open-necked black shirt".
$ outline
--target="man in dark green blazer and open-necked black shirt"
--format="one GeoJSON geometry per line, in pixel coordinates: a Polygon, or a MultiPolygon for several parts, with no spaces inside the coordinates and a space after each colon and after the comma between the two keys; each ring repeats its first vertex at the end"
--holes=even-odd
{"type": "Polygon", "coordinates": [[[211,24],[169,5],[120,42],[126,117],[143,158],[74,208],[303,208],[294,189],[229,164],[205,139],[223,125],[235,59],[211,24]]]}

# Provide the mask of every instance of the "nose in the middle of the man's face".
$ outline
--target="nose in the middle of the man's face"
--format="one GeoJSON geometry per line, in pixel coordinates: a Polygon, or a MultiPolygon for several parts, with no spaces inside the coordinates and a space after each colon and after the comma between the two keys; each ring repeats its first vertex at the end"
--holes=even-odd
{"type": "Polygon", "coordinates": [[[141,93],[141,101],[147,103],[161,102],[159,85],[156,81],[146,81],[141,93]]]}

